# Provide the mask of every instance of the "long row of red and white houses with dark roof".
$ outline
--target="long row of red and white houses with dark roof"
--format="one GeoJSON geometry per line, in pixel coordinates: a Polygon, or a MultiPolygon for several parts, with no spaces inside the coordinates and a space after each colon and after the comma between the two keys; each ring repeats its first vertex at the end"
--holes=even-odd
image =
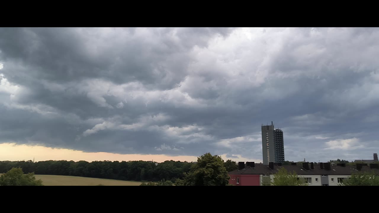
{"type": "Polygon", "coordinates": [[[302,166],[296,163],[289,166],[282,166],[281,163],[269,162],[269,165],[255,164],[254,162],[238,162],[238,170],[229,172],[229,183],[235,186],[260,186],[263,179],[274,179],[274,174],[280,168],[285,168],[289,172],[296,172],[298,178],[304,178],[309,186],[338,186],[343,184],[343,180],[349,178],[353,172],[374,171],[379,175],[379,164],[377,163],[357,163],[357,166],[346,166],[345,163],[338,163],[331,166],[330,163],[318,163],[317,165],[304,162],[302,166]]]}

